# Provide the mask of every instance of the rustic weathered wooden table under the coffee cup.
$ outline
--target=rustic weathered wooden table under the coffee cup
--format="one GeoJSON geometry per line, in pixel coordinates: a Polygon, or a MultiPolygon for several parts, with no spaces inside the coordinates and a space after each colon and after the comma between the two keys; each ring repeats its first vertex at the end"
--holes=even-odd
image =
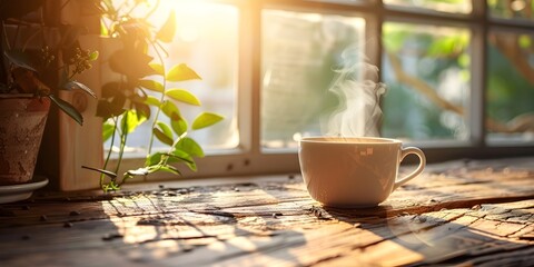
{"type": "Polygon", "coordinates": [[[0,266],[534,265],[534,158],[431,165],[370,209],[298,175],[136,188],[1,205],[0,266]]]}

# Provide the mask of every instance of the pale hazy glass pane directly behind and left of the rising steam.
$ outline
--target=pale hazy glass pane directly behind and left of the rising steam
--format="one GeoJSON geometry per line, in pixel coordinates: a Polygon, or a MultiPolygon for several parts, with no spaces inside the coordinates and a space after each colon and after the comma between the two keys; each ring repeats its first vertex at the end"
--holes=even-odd
{"type": "Polygon", "coordinates": [[[363,60],[365,21],[279,10],[261,14],[261,146],[296,147],[300,136],[325,132],[322,120],[338,107],[329,90],[335,69],[347,51],[356,55],[350,60],[363,60]]]}

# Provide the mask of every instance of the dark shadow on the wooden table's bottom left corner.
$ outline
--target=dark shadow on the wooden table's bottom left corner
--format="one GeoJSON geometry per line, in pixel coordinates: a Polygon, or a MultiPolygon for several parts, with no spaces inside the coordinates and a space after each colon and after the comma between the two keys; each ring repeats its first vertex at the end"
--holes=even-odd
{"type": "Polygon", "coordinates": [[[0,216],[0,266],[126,265],[116,216],[102,206],[110,199],[65,194],[2,205],[10,214],[0,216]]]}

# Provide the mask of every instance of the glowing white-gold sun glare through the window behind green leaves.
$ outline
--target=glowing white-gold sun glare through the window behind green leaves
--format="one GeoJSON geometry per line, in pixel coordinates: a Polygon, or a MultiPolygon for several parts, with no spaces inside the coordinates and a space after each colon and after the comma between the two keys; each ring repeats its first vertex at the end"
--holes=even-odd
{"type": "MultiPolygon", "coordinates": [[[[174,36],[157,43],[157,47],[162,50],[160,51],[162,58],[154,57],[154,61],[162,65],[167,70],[178,63],[186,63],[202,78],[201,81],[167,82],[168,89],[187,86],[199,99],[202,99],[201,107],[185,106],[182,108],[185,118],[192,121],[199,110],[209,110],[225,117],[225,120],[212,129],[191,131],[189,137],[195,138],[208,151],[237,147],[239,136],[235,122],[235,102],[239,52],[239,8],[235,4],[207,0],[112,0],[112,3],[113,7],[120,7],[120,10],[125,11],[119,16],[129,14],[131,18],[146,19],[150,27],[154,27],[155,32],[164,29],[162,27],[170,22],[169,16],[174,13],[174,36]]],[[[103,30],[112,29],[106,18],[102,22],[106,26],[102,27],[103,30]]],[[[106,34],[103,30],[102,33],[106,34]]],[[[150,56],[154,55],[156,53],[150,53],[150,56]]],[[[128,146],[142,150],[146,146],[145,135],[151,132],[148,127],[148,123],[141,125],[132,132],[128,146]]],[[[157,146],[165,147],[161,144],[157,146]]]]}

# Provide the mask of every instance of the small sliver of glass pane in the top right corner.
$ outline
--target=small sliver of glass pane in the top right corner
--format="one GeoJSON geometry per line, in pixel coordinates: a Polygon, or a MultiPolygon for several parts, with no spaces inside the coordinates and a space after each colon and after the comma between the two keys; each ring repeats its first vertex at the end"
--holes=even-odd
{"type": "Polygon", "coordinates": [[[534,1],[487,0],[487,6],[492,17],[534,21],[534,1]]]}

